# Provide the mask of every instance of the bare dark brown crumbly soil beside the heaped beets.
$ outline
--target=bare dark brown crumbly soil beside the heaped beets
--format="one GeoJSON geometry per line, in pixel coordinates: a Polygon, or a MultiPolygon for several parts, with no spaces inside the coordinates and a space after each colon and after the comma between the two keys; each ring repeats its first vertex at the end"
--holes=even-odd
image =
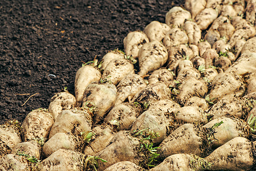
{"type": "Polygon", "coordinates": [[[182,4],[1,0],[0,124],[22,122],[33,109],[48,108],[51,97],[64,87],[74,95],[75,74],[83,62],[123,50],[128,32],[143,30],[152,21],[164,23],[169,9],[182,4]]]}

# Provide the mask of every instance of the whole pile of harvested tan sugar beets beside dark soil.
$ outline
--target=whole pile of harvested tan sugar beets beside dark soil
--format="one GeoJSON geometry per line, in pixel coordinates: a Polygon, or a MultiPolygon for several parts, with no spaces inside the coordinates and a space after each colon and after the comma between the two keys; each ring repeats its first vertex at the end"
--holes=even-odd
{"type": "Polygon", "coordinates": [[[256,0],[186,0],[0,127],[0,170],[250,170],[256,0]],[[204,34],[205,33],[205,34],[204,34]]]}

